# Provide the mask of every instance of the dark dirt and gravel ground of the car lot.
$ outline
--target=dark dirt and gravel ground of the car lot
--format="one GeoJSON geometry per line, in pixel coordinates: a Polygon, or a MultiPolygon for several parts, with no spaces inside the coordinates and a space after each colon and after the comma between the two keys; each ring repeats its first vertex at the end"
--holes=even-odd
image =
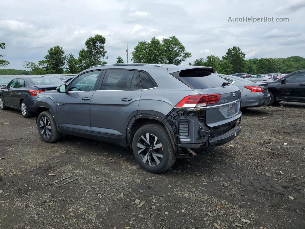
{"type": "Polygon", "coordinates": [[[237,138],[161,174],[115,144],[47,144],[35,118],[0,111],[0,228],[303,229],[305,104],[281,104],[243,111],[237,138]]]}

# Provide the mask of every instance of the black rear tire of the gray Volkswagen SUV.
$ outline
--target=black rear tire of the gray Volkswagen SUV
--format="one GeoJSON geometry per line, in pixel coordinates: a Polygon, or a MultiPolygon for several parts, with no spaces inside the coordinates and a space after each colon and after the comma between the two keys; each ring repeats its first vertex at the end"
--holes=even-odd
{"type": "MultiPolygon", "coordinates": [[[[147,139],[147,138],[146,138],[147,139]]],[[[147,141],[145,141],[147,143],[147,141]]],[[[145,144],[144,142],[144,144],[145,144]]],[[[154,142],[154,141],[149,141],[149,142],[154,142]]],[[[143,148],[142,148],[143,149],[143,148]]],[[[145,169],[146,171],[150,172],[150,173],[162,173],[164,171],[166,171],[167,169],[169,169],[171,166],[174,165],[175,161],[176,161],[176,153],[174,151],[174,147],[173,144],[170,140],[170,136],[167,133],[167,130],[159,124],[148,124],[148,125],[144,125],[141,128],[139,128],[136,133],[135,136],[133,137],[132,140],[132,150],[134,152],[134,156],[135,159],[137,160],[137,162],[141,165],[141,167],[143,169],[145,169]],[[141,139],[141,136],[149,134],[149,136],[151,136],[151,138],[156,137],[158,140],[156,141],[155,146],[161,144],[161,150],[162,150],[162,154],[163,157],[162,159],[158,157],[156,157],[156,154],[160,155],[160,147],[156,147],[158,149],[153,149],[153,143],[151,144],[151,146],[149,147],[149,144],[146,144],[147,147],[140,153],[138,153],[138,151],[141,151],[141,147],[138,147],[138,142],[139,141],[143,141],[143,138],[141,139]],[[151,149],[150,149],[151,148],[151,149]],[[149,151],[152,150],[149,154],[149,151]],[[146,159],[146,163],[143,161],[145,160],[143,157],[144,154],[146,154],[147,152],[147,159],[146,159]],[[159,164],[157,162],[157,160],[155,160],[154,158],[158,158],[159,164]],[[147,162],[148,161],[148,162],[147,162]],[[148,164],[151,163],[151,165],[148,164]],[[155,165],[153,165],[153,163],[155,163],[155,165]]]]}

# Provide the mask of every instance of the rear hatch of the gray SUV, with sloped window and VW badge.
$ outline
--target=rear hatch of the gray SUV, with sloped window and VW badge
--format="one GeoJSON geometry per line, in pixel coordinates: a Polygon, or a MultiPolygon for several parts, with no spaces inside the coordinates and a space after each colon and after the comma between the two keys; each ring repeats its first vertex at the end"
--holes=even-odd
{"type": "Polygon", "coordinates": [[[223,125],[241,116],[239,88],[213,74],[213,68],[192,68],[170,74],[201,95],[221,94],[217,103],[207,104],[206,125],[223,125]]]}

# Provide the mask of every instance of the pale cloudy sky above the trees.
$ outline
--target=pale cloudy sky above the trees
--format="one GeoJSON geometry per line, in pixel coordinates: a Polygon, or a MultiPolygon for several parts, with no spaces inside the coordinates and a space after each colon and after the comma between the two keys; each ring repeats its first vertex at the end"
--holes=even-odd
{"type": "Polygon", "coordinates": [[[223,56],[236,45],[246,59],[305,57],[305,0],[292,1],[185,1],[185,0],[27,0],[2,1],[0,50],[10,62],[6,68],[23,69],[24,61],[43,60],[54,45],[78,56],[90,36],[106,37],[109,64],[118,56],[126,63],[139,41],[175,35],[194,61],[223,56]],[[209,2],[209,3],[208,3],[209,2]],[[289,22],[228,22],[229,17],[288,17],[289,22]]]}

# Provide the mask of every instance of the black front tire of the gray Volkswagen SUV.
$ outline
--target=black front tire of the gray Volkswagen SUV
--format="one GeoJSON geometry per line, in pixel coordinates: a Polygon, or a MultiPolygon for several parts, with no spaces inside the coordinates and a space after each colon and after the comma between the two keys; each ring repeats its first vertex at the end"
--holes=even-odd
{"type": "Polygon", "coordinates": [[[40,137],[45,142],[56,142],[61,138],[61,133],[58,131],[56,122],[50,111],[43,111],[40,113],[37,119],[37,127],[40,137]],[[48,128],[49,126],[51,129],[48,128]],[[44,129],[43,132],[42,129],[44,129]],[[46,129],[48,129],[48,131],[46,131],[46,129]]]}

